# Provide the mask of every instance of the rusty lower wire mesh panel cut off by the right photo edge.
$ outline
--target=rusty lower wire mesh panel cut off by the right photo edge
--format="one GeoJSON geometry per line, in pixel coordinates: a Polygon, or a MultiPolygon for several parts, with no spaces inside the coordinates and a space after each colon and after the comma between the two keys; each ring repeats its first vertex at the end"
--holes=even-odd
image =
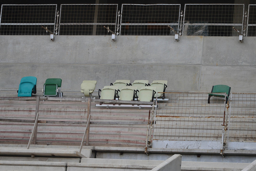
{"type": "Polygon", "coordinates": [[[256,94],[231,93],[228,141],[256,141],[256,94]]]}

